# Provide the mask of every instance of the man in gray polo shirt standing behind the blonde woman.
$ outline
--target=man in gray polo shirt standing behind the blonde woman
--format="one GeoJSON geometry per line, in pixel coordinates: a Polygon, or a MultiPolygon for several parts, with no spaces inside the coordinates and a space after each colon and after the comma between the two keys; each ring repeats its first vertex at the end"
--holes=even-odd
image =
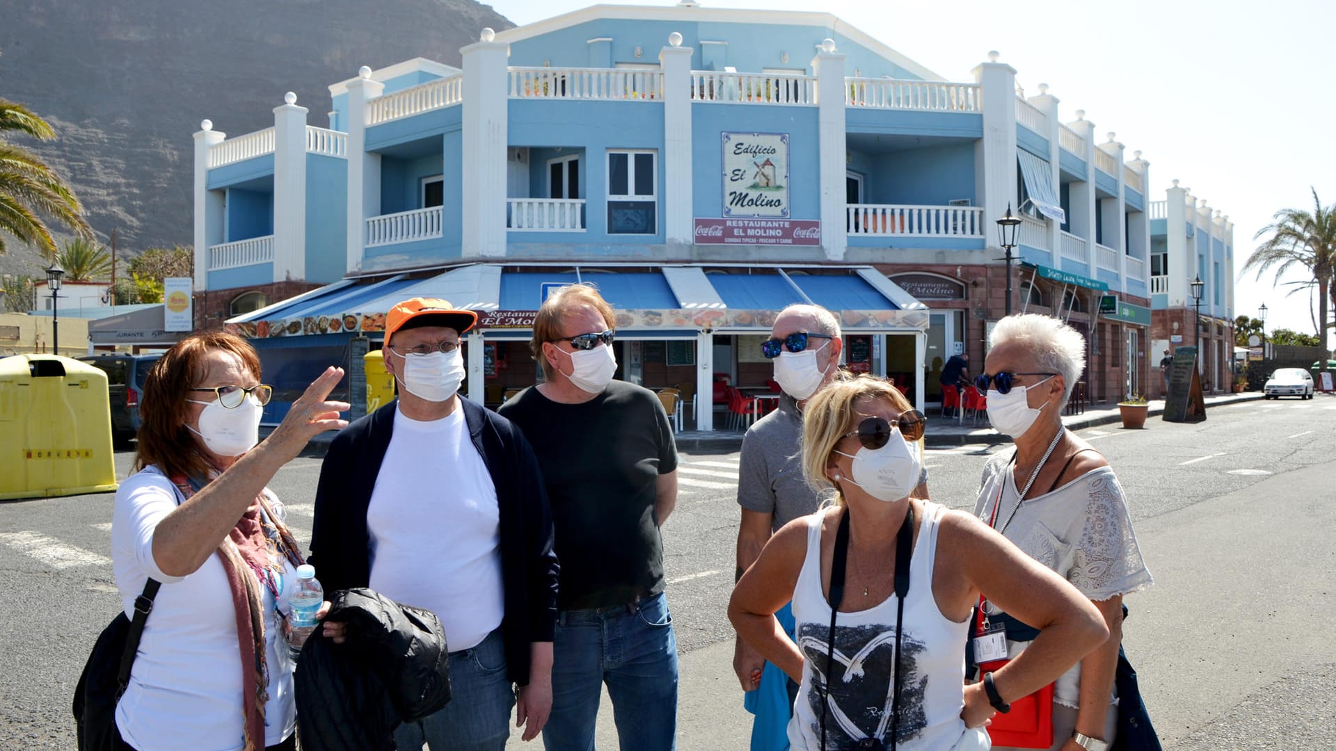
{"type": "MultiPolygon", "coordinates": [[[[760,556],[770,536],[790,521],[815,513],[820,505],[816,490],[803,476],[803,414],[808,398],[840,376],[843,351],[839,321],[816,305],[791,305],[775,318],[771,338],[762,354],[775,363],[775,381],[783,390],[779,409],[756,421],[743,438],[737,466],[737,571],[735,579],[760,556]]],[[[927,497],[926,476],[914,490],[927,497]]],[[[794,613],[784,605],[775,617],[794,637],[794,613]]],[[[743,704],[756,715],[752,723],[752,751],[788,748],[786,727],[792,714],[798,684],[783,671],[737,639],[733,671],[747,692],[743,704]]]]}

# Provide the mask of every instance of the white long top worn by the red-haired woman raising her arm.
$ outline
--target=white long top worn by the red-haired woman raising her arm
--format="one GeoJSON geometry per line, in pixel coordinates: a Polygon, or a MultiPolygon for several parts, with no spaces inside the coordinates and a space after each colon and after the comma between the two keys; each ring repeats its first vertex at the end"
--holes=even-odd
{"type": "MultiPolygon", "coordinates": [[[[269,490],[266,490],[269,493],[269,490]]],[[[273,498],[270,496],[270,498],[273,498]]],[[[154,577],[162,583],[130,673],[116,704],[116,727],[140,751],[192,748],[234,751],[244,744],[242,669],[236,647],[236,611],[218,555],[187,576],[167,576],[154,560],[154,531],[180,502],[175,485],[150,466],[116,490],[111,522],[111,561],[126,617],[154,577]]],[[[278,607],[287,612],[297,572],[286,559],[278,607]]],[[[254,576],[250,571],[247,576],[254,576]]],[[[274,596],[261,587],[269,702],[265,744],[282,743],[297,726],[293,671],[274,596]]],[[[244,665],[244,669],[253,669],[244,665]]]]}

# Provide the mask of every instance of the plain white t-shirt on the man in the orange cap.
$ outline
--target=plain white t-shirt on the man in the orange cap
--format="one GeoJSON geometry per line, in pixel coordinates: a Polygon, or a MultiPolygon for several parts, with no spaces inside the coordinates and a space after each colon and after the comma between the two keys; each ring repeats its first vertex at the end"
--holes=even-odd
{"type": "Polygon", "coordinates": [[[366,509],[371,589],[436,613],[452,652],[477,647],[505,615],[500,521],[464,409],[429,422],[395,410],[366,509]]]}

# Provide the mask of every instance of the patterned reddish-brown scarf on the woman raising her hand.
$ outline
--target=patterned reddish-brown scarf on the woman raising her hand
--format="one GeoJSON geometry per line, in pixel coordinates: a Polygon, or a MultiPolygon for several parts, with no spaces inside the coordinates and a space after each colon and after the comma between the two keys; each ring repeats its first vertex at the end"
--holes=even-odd
{"type": "MultiPolygon", "coordinates": [[[[211,469],[207,477],[172,477],[184,497],[194,496],[206,482],[218,477],[211,469]]],[[[218,559],[227,575],[227,587],[236,612],[236,647],[242,665],[242,712],[246,744],[243,751],[265,748],[265,703],[269,702],[269,660],[265,649],[265,597],[261,587],[267,587],[278,600],[282,564],[279,555],[294,567],[305,563],[287,525],[274,514],[265,493],[255,496],[255,504],[236,520],[227,539],[218,547],[218,559]],[[246,576],[247,569],[254,576],[246,576]]]]}

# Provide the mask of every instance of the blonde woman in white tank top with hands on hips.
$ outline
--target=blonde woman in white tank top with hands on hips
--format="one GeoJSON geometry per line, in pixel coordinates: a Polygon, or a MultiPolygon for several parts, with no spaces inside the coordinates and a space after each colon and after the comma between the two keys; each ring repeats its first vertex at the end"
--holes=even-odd
{"type": "Polygon", "coordinates": [[[923,416],[880,378],[818,393],[804,409],[803,470],[832,502],[776,532],[733,589],[728,617],[737,633],[800,686],[788,728],[795,750],[987,748],[975,728],[995,712],[994,699],[982,684],[965,686],[966,627],[981,591],[1043,629],[993,676],[995,702],[1051,683],[1108,637],[1088,599],[978,518],[907,497],[922,464],[922,426],[923,416]],[[846,516],[831,639],[831,568],[846,516]],[[906,521],[900,603],[895,561],[906,521]],[[798,644],[774,616],[788,600],[798,644]]]}

